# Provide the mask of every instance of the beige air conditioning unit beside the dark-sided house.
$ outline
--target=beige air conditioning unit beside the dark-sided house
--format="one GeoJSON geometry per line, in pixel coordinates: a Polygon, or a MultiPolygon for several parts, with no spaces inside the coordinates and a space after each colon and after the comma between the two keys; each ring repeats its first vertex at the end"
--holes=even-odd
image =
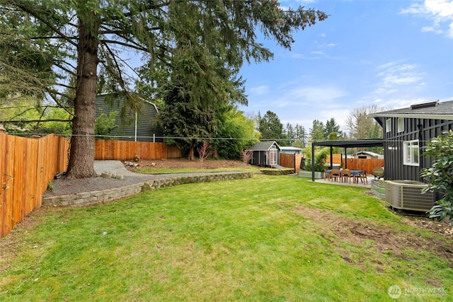
{"type": "Polygon", "coordinates": [[[427,187],[413,180],[386,180],[385,200],[394,209],[429,211],[435,202],[435,193],[421,190],[427,187]]]}

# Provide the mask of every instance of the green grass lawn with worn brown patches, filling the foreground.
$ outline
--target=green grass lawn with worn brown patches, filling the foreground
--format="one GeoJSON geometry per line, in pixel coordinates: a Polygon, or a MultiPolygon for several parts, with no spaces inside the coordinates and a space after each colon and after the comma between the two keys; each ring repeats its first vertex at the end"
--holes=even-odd
{"type": "Polygon", "coordinates": [[[368,191],[255,175],[40,210],[0,240],[0,301],[453,301],[452,240],[368,191]]]}

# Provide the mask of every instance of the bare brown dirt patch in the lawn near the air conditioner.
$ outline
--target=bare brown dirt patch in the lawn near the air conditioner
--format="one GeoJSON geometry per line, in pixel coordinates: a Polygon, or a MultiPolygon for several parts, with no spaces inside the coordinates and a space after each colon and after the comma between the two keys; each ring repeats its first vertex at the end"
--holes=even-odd
{"type": "MultiPolygon", "coordinates": [[[[428,221],[427,219],[418,217],[403,219],[401,223],[417,228],[424,228],[434,233],[428,238],[422,236],[416,230],[413,232],[396,232],[389,226],[380,226],[371,221],[345,219],[329,211],[321,211],[320,209],[299,207],[296,212],[306,218],[323,221],[321,228],[323,228],[324,233],[333,233],[340,240],[347,241],[353,245],[365,245],[367,244],[367,240],[372,240],[374,242],[374,250],[379,254],[390,252],[403,260],[409,260],[403,255],[403,251],[405,250],[432,252],[449,262],[453,267],[453,228],[447,223],[428,221]],[[435,234],[442,236],[436,236],[435,234]]],[[[362,264],[351,260],[350,255],[343,253],[342,257],[345,261],[355,263],[362,267],[362,264]]],[[[378,272],[382,270],[382,263],[379,260],[373,260],[372,262],[377,265],[378,272]]]]}

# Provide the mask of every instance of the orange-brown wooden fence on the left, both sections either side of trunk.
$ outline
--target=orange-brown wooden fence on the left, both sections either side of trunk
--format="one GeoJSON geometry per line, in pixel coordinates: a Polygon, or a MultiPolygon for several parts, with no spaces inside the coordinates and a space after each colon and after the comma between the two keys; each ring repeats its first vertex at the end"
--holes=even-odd
{"type": "MultiPolygon", "coordinates": [[[[67,170],[69,143],[55,134],[28,139],[0,132],[0,238],[41,207],[48,183],[67,170]]],[[[182,157],[181,149],[165,143],[97,140],[95,144],[98,160],[182,157]]]]}

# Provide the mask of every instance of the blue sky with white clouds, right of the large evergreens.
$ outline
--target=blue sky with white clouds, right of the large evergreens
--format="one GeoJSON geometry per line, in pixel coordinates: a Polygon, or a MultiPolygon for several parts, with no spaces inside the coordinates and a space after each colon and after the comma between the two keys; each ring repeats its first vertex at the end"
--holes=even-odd
{"type": "Polygon", "coordinates": [[[295,33],[292,50],[263,40],[271,62],[243,66],[246,115],[273,111],[285,126],[335,118],[354,108],[387,109],[453,100],[453,0],[281,0],[328,19],[295,33]]]}

